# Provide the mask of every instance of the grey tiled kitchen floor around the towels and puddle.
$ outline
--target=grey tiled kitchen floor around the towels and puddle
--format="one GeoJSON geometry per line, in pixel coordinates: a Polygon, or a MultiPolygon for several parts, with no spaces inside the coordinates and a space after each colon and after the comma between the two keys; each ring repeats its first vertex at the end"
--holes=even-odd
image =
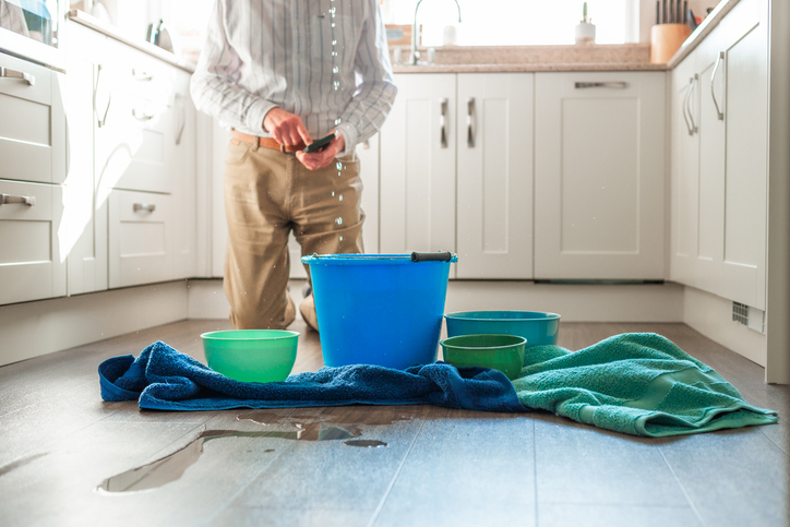
{"type": "MultiPolygon", "coordinates": [[[[315,370],[318,335],[296,324],[295,371],[315,370]]],[[[204,360],[200,334],[227,327],[178,322],[0,368],[0,525],[790,525],[790,387],[766,385],[761,367],[682,324],[563,323],[559,344],[662,334],[778,410],[778,423],[657,440],[546,412],[101,402],[101,360],[158,339],[204,360]],[[230,432],[195,442],[213,430],[230,432]],[[143,469],[152,489],[97,490],[173,453],[143,469]]]]}

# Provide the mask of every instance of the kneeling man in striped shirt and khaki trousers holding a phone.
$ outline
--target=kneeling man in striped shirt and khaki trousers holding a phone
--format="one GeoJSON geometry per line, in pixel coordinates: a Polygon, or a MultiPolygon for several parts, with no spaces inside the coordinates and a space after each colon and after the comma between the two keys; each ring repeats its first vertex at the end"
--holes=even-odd
{"type": "MultiPolygon", "coordinates": [[[[284,328],[288,233],[302,254],[362,252],[356,144],[396,88],[378,0],[216,0],[191,83],[231,130],[225,159],[224,289],[236,328],[284,328]],[[301,152],[330,133],[318,152],[301,152]]],[[[309,273],[309,270],[308,270],[309,273]]],[[[300,304],[318,330],[312,295],[300,304]]]]}

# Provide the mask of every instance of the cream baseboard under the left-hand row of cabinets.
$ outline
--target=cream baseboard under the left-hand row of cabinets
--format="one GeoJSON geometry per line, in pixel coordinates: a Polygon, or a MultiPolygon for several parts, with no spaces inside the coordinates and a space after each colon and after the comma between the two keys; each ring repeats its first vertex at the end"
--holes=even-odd
{"type": "Polygon", "coordinates": [[[183,280],[0,307],[0,366],[188,318],[183,280]]]}

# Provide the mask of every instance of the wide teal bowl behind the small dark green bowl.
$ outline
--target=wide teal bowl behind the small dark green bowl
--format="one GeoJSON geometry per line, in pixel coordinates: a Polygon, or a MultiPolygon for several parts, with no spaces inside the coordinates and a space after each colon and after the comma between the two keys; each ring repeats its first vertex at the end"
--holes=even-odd
{"type": "Polygon", "coordinates": [[[527,347],[555,345],[560,334],[560,315],[543,311],[459,311],[444,315],[447,336],[518,335],[527,347]]]}

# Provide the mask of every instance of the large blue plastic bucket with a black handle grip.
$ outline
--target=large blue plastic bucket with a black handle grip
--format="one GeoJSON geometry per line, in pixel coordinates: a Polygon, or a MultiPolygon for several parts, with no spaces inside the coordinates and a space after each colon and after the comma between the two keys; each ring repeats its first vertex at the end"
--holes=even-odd
{"type": "Polygon", "coordinates": [[[452,253],[303,256],[324,364],[404,369],[434,362],[450,264],[457,261],[452,253]]]}

